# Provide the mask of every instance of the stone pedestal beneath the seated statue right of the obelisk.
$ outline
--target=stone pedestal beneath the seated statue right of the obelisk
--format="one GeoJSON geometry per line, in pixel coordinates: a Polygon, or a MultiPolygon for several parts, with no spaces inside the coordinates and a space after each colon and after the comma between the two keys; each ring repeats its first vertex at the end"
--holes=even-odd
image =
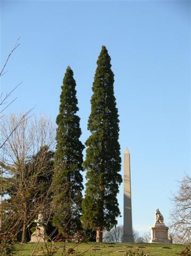
{"type": "Polygon", "coordinates": [[[151,227],[151,243],[166,243],[169,244],[168,227],[164,223],[155,223],[151,227]]]}

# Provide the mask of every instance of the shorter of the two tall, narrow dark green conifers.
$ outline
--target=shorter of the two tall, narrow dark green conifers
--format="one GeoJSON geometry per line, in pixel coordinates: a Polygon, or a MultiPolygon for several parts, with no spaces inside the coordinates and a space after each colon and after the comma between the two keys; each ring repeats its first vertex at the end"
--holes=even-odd
{"type": "Polygon", "coordinates": [[[67,68],[61,86],[60,113],[56,118],[56,151],[54,154],[54,193],[53,225],[59,227],[63,235],[73,235],[80,230],[81,191],[84,146],[79,140],[81,135],[79,110],[76,98],[76,82],[73,71],[67,68]]]}

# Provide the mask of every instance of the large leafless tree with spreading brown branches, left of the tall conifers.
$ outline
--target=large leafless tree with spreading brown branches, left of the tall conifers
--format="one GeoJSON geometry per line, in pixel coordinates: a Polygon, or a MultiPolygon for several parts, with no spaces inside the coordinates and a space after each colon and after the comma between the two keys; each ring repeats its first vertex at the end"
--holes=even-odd
{"type": "MultiPolygon", "coordinates": [[[[18,232],[22,229],[24,243],[27,226],[34,221],[39,212],[46,213],[47,210],[45,206],[51,191],[47,191],[46,195],[43,194],[43,182],[39,186],[39,177],[46,171],[47,150],[52,150],[55,146],[55,127],[45,117],[40,119],[26,117],[10,135],[22,116],[24,115],[13,114],[2,120],[2,139],[6,140],[6,143],[3,146],[4,158],[1,161],[1,167],[4,191],[9,189],[13,191],[10,201],[2,201],[4,223],[9,222],[6,217],[14,220],[15,223],[12,225],[11,222],[9,230],[16,227],[18,232]]],[[[46,175],[48,176],[49,173],[46,175]]],[[[7,194],[9,196],[9,193],[7,194]]]]}

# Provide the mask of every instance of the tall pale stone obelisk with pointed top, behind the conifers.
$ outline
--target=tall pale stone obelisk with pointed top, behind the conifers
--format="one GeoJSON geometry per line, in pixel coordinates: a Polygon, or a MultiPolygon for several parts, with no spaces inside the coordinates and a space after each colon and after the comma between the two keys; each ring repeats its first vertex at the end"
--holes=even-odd
{"type": "Polygon", "coordinates": [[[131,172],[128,148],[124,151],[123,173],[123,243],[134,242],[132,235],[131,172]]]}

